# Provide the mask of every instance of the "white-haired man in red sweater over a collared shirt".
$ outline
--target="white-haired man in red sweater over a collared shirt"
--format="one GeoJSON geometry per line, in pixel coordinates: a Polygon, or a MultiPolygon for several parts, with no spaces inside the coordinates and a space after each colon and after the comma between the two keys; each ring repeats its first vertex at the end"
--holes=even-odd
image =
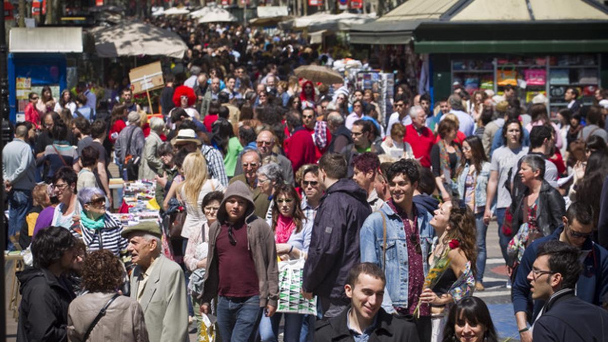
{"type": "Polygon", "coordinates": [[[435,144],[435,136],[426,127],[426,112],[421,106],[412,106],[409,114],[412,124],[406,126],[403,141],[412,145],[412,152],[422,166],[430,167],[430,148],[435,144]]]}

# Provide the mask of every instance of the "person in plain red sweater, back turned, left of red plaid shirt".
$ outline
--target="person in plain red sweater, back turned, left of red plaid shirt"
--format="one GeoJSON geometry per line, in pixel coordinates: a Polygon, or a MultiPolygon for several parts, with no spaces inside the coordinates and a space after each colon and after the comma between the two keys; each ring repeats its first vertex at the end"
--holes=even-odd
{"type": "Polygon", "coordinates": [[[298,111],[287,113],[287,128],[291,136],[285,140],[285,156],[291,161],[294,173],[305,164],[316,162],[313,136],[302,125],[302,117],[298,111]]]}

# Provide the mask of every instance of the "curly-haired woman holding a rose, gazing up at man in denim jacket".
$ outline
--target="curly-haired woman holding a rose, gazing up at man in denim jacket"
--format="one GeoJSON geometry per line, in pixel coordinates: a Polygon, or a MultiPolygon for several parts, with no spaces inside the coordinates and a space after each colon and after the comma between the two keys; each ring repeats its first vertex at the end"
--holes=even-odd
{"type": "Polygon", "coordinates": [[[429,256],[430,267],[435,268],[440,259],[449,259],[447,268],[430,288],[424,288],[420,301],[430,304],[431,341],[441,340],[445,323],[446,307],[468,296],[475,287],[477,268],[477,240],[475,216],[464,203],[446,201],[435,211],[430,220],[437,239],[429,256]]]}

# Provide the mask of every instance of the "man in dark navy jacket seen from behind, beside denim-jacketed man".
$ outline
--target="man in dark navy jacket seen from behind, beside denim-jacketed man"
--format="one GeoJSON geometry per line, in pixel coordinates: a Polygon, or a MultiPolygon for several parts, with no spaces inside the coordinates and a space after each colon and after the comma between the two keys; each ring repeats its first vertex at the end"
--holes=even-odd
{"type": "Polygon", "coordinates": [[[318,296],[323,316],[331,318],[350,301],[344,291],[348,272],[359,263],[359,229],[371,214],[367,192],[345,179],[344,156],[325,153],[319,160],[319,180],[325,186],[314,220],[313,234],[304,265],[302,290],[306,298],[318,296]]]}

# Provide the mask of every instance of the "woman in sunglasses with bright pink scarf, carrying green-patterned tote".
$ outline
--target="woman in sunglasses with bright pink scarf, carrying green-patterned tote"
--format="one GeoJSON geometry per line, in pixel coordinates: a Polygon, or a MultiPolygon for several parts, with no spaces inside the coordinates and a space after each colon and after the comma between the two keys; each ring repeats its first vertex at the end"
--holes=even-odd
{"type": "MultiPolygon", "coordinates": [[[[275,190],[274,201],[272,201],[272,220],[269,225],[274,231],[277,256],[281,260],[306,257],[312,226],[304,225],[305,220],[300,197],[294,187],[289,184],[278,186],[275,190]]],[[[277,312],[272,317],[262,317],[260,322],[262,342],[278,341],[278,325],[282,315],[277,312]]],[[[298,313],[285,313],[285,335],[283,335],[285,342],[300,341],[300,330],[302,330],[304,317],[305,315],[298,313]]]]}

